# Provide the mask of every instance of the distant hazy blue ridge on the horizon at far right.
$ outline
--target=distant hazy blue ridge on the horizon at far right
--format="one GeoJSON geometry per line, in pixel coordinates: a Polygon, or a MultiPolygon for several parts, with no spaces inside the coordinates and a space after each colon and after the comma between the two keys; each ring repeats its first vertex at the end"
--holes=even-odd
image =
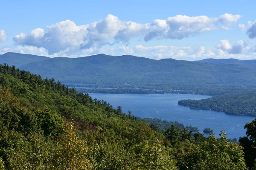
{"type": "Polygon", "coordinates": [[[202,59],[198,62],[211,63],[211,64],[238,64],[249,67],[256,67],[256,59],[240,60],[240,59],[202,59]]]}

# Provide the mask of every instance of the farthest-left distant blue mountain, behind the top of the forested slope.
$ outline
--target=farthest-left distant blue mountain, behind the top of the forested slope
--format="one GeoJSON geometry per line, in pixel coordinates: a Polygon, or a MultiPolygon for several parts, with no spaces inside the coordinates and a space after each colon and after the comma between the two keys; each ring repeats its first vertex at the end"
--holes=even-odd
{"type": "Polygon", "coordinates": [[[26,65],[31,62],[44,61],[46,59],[49,59],[49,57],[35,56],[30,54],[6,53],[0,55],[0,64],[8,63],[9,65],[20,67],[21,65],[26,65]]]}

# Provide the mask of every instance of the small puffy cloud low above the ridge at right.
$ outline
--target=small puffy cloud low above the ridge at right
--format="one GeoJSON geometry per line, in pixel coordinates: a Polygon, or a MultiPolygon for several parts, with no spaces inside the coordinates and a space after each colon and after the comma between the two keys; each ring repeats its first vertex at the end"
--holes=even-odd
{"type": "Polygon", "coordinates": [[[221,40],[221,44],[217,45],[216,48],[227,51],[229,54],[241,54],[250,51],[252,42],[239,40],[235,45],[231,45],[229,40],[221,40]]]}

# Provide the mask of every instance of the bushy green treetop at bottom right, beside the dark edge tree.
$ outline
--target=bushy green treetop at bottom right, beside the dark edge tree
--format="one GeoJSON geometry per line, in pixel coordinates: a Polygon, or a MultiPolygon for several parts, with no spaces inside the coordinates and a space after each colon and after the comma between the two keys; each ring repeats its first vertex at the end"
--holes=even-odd
{"type": "Polygon", "coordinates": [[[245,170],[242,147],[227,142],[225,135],[222,131],[219,139],[210,136],[185,153],[178,162],[180,170],[245,170]]]}

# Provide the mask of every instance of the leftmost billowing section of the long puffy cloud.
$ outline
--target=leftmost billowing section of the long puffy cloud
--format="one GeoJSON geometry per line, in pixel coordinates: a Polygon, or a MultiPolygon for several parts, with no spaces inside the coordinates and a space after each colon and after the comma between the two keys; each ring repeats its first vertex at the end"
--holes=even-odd
{"type": "Polygon", "coordinates": [[[87,34],[87,25],[76,26],[73,21],[66,20],[42,28],[32,30],[29,34],[18,34],[13,40],[20,45],[32,45],[47,49],[49,54],[73,48],[79,48],[87,34]]]}

